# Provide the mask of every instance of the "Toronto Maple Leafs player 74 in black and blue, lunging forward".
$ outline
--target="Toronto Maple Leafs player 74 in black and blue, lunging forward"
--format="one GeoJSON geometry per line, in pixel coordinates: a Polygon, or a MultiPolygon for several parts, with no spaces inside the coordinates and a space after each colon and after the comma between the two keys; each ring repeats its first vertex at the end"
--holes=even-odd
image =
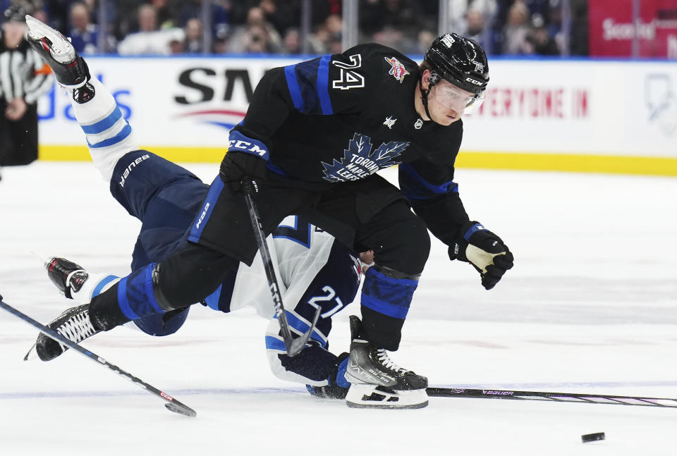
{"type": "MultiPolygon", "coordinates": [[[[55,73],[65,85],[73,78],[55,73]]],[[[388,352],[400,343],[428,230],[449,245],[451,259],[475,266],[487,290],[513,266],[501,238],[470,221],[453,183],[461,116],[481,103],[488,81],[480,45],[453,33],[432,43],[421,66],[394,49],[360,44],[270,70],[231,130],[188,245],[94,297],[87,325],[108,331],[132,316],[200,302],[224,271],[251,264],[257,246],[242,190],[254,181],[265,233],[286,215],[303,214],[356,250],[374,250],[362,320],[351,321],[348,405],[425,407],[427,378],[397,366],[388,352]],[[401,190],[375,174],[394,165],[401,190]],[[148,280],[152,287],[142,285],[148,280]]]]}

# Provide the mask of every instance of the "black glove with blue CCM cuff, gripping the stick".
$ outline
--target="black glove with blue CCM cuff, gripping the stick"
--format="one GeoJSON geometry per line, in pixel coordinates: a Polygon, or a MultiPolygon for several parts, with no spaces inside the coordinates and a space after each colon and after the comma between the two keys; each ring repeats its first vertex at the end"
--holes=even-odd
{"type": "Polygon", "coordinates": [[[231,187],[233,192],[242,189],[244,178],[260,182],[266,175],[268,149],[260,141],[252,140],[237,130],[231,130],[228,152],[221,161],[221,180],[231,187]]]}

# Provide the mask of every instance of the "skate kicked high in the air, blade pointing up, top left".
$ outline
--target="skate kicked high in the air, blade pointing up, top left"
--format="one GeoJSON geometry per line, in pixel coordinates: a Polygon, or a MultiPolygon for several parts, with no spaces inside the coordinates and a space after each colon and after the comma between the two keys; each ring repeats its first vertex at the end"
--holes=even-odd
{"type": "Polygon", "coordinates": [[[61,35],[60,32],[32,16],[26,16],[26,24],[28,25],[28,42],[30,46],[51,67],[59,84],[67,89],[76,89],[75,92],[78,92],[81,97],[91,98],[93,96],[93,89],[91,89],[90,85],[87,85],[87,81],[90,80],[87,63],[85,63],[82,57],[78,56],[78,53],[73,48],[73,44],[61,35]],[[89,87],[77,90],[85,85],[89,87]],[[90,89],[92,94],[88,94],[90,89]],[[80,94],[80,92],[83,93],[80,94]]]}

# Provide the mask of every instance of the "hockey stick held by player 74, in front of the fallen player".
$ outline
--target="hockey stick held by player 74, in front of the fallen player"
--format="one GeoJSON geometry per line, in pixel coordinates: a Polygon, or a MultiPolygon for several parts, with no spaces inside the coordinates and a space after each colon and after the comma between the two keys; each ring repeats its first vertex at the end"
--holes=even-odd
{"type": "Polygon", "coordinates": [[[266,237],[263,234],[263,224],[261,223],[261,216],[259,211],[254,203],[254,193],[258,190],[252,188],[252,185],[255,187],[256,183],[249,180],[249,178],[244,178],[242,180],[242,187],[245,193],[245,201],[247,202],[247,209],[249,211],[249,216],[252,220],[252,228],[254,230],[254,237],[256,238],[256,245],[261,252],[261,259],[263,260],[263,268],[266,270],[266,278],[268,279],[268,286],[270,288],[270,293],[273,297],[273,304],[275,306],[275,315],[277,316],[277,321],[280,325],[280,331],[282,333],[282,338],[284,340],[284,346],[287,350],[287,355],[294,357],[303,350],[305,343],[310,339],[312,330],[315,329],[315,324],[317,319],[319,319],[320,309],[315,311],[315,316],[312,317],[312,322],[310,323],[310,329],[303,335],[300,335],[298,338],[293,338],[291,335],[291,330],[289,329],[289,323],[287,321],[287,314],[284,311],[284,305],[282,304],[282,295],[280,295],[280,287],[277,285],[277,278],[275,276],[275,269],[273,268],[273,261],[270,258],[270,252],[268,249],[268,244],[266,242],[266,237]]]}

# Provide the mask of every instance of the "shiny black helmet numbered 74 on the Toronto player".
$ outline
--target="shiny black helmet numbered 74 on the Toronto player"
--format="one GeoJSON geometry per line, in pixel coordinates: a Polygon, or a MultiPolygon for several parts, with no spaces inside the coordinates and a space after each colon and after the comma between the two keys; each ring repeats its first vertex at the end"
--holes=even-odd
{"type": "Polygon", "coordinates": [[[425,61],[432,66],[433,75],[429,81],[432,85],[438,78],[443,78],[475,95],[487,88],[487,54],[474,39],[446,33],[432,42],[425,53],[425,61]]]}

